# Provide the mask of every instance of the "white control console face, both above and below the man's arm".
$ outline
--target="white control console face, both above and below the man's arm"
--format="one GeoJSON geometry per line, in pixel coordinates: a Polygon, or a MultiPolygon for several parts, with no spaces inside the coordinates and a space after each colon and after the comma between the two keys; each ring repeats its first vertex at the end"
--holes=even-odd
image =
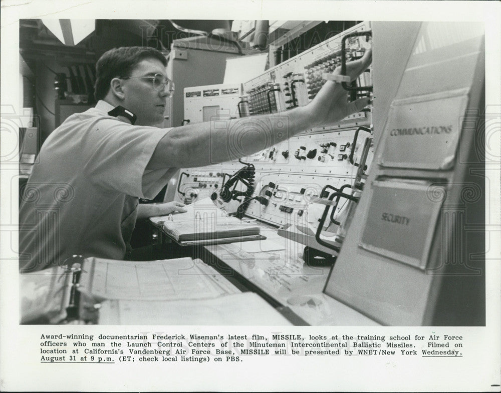
{"type": "MultiPolygon", "coordinates": [[[[363,56],[371,45],[370,34],[370,26],[361,23],[252,80],[242,81],[241,85],[186,88],[186,121],[221,124],[235,117],[284,113],[307,105],[325,83],[326,74],[342,67],[343,58],[349,62],[363,56]]],[[[371,85],[369,68],[351,84],[360,90],[347,90],[347,101],[369,96],[371,85]]],[[[351,196],[356,192],[355,186],[360,193],[373,160],[371,107],[329,127],[305,130],[283,139],[240,161],[181,169],[174,199],[189,204],[211,197],[220,204],[229,198],[229,194],[222,195],[228,189],[227,185],[224,187],[226,182],[248,166],[253,172],[252,184],[248,182],[252,187],[246,188],[247,193],[245,187],[231,191],[240,196],[232,198],[238,203],[245,200],[246,216],[277,227],[292,224],[313,237],[322,221],[321,238],[339,245],[355,199],[340,195],[351,196]],[[252,194],[247,195],[250,188],[252,194]],[[322,220],[326,206],[330,219],[322,220]]],[[[336,249],[328,247],[327,251],[335,254],[336,249]]]]}

